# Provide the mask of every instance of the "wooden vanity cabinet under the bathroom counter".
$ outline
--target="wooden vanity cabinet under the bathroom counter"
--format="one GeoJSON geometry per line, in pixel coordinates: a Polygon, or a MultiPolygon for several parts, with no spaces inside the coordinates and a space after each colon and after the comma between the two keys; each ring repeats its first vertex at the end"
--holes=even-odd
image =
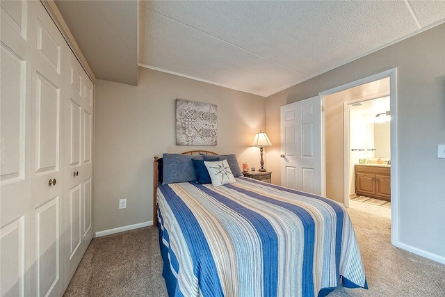
{"type": "Polygon", "coordinates": [[[355,193],[391,200],[391,168],[388,166],[355,166],[355,193]]]}

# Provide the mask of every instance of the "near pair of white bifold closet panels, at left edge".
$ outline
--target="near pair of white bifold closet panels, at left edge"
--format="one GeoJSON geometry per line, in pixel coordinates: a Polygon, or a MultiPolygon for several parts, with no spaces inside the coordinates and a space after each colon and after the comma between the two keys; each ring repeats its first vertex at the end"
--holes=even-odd
{"type": "Polygon", "coordinates": [[[40,1],[1,1],[1,296],[63,294],[63,61],[40,1]]]}

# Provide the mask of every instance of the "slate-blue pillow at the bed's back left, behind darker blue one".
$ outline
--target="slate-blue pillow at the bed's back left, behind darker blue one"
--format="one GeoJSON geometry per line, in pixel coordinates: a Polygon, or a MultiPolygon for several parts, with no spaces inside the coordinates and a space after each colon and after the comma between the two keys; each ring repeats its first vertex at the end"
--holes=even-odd
{"type": "Polygon", "coordinates": [[[195,168],[191,159],[202,159],[202,156],[190,154],[163,154],[162,184],[174,182],[193,182],[196,180],[195,168]]]}

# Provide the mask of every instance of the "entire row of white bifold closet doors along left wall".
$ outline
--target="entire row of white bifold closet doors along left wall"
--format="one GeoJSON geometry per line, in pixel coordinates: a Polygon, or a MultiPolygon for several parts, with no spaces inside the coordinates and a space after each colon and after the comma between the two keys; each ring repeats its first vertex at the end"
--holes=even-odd
{"type": "Polygon", "coordinates": [[[0,6],[0,296],[62,296],[92,239],[93,84],[40,1],[0,6]]]}

